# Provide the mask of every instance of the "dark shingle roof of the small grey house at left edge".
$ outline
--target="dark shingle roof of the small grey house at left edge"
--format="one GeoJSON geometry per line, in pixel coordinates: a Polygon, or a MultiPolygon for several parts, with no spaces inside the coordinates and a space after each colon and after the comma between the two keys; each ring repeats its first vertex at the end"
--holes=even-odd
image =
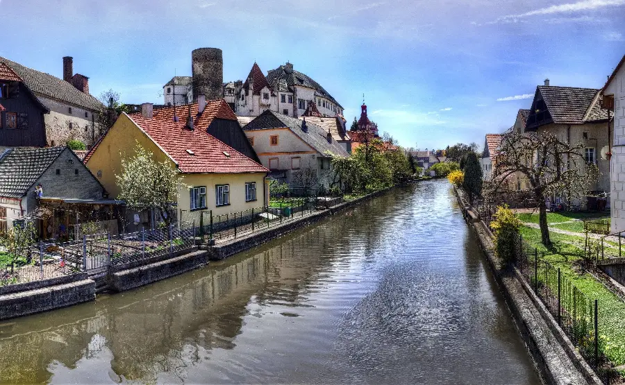
{"type": "Polygon", "coordinates": [[[65,148],[12,148],[0,155],[0,196],[22,198],[65,148]]]}

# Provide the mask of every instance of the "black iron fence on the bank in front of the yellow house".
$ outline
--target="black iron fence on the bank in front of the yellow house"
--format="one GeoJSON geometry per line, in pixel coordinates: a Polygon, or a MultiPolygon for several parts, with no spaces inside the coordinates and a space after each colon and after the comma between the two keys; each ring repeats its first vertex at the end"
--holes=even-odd
{"type": "Polygon", "coordinates": [[[197,234],[203,243],[237,239],[260,230],[301,219],[317,210],[316,197],[290,198],[272,202],[270,206],[247,209],[241,212],[213,214],[201,212],[197,234]]]}

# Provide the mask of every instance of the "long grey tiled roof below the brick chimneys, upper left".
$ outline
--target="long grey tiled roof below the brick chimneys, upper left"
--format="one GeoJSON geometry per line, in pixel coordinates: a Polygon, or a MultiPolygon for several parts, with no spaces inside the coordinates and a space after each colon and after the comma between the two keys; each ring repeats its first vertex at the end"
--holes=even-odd
{"type": "Polygon", "coordinates": [[[37,71],[23,65],[0,57],[0,62],[6,64],[15,71],[24,84],[28,86],[36,95],[48,96],[52,99],[65,101],[66,103],[77,105],[88,110],[100,110],[103,105],[90,94],[79,91],[76,87],[56,76],[37,71]]]}

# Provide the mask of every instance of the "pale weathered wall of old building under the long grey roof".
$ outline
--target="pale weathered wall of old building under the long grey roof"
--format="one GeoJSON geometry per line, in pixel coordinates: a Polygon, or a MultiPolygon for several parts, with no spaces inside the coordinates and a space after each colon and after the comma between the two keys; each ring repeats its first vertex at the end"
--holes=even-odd
{"type": "Polygon", "coordinates": [[[56,99],[38,95],[39,100],[49,110],[44,114],[46,140],[48,146],[64,146],[70,139],[78,139],[92,146],[99,137],[97,111],[76,107],[56,99]],[[72,108],[72,112],[69,112],[72,108]]]}

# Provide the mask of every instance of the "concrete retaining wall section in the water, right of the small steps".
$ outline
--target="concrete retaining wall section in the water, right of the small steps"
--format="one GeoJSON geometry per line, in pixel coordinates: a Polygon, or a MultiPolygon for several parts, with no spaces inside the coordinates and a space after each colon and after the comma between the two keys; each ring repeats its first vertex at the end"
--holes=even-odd
{"type": "Polygon", "coordinates": [[[147,264],[138,268],[131,268],[109,275],[108,286],[114,291],[126,291],[135,287],[151,284],[164,280],[195,268],[204,266],[207,262],[208,253],[197,250],[190,254],[181,255],[172,259],[147,264]]]}

